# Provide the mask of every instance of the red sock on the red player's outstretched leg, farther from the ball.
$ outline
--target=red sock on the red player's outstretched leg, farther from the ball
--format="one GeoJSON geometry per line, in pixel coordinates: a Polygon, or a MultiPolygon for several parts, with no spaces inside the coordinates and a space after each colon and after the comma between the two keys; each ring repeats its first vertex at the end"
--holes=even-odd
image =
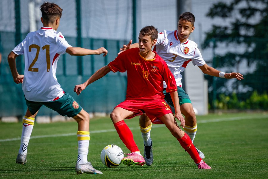
{"type": "Polygon", "coordinates": [[[180,145],[183,147],[183,149],[185,149],[186,152],[191,155],[191,158],[194,160],[195,163],[200,163],[202,161],[202,159],[199,157],[197,150],[194,147],[194,144],[186,133],[184,133],[181,139],[177,140],[180,142],[180,145]]]}

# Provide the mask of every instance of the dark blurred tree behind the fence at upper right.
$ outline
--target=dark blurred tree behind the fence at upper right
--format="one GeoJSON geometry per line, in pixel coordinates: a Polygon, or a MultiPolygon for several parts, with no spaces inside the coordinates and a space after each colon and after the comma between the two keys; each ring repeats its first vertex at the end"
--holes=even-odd
{"type": "MultiPolygon", "coordinates": [[[[204,48],[217,48],[224,44],[229,49],[224,55],[214,55],[213,67],[233,68],[238,67],[242,61],[247,61],[251,72],[244,75],[244,80],[234,84],[234,89],[238,89],[239,84],[246,89],[244,94],[238,94],[244,98],[243,101],[254,90],[259,94],[268,91],[268,0],[218,2],[210,7],[207,16],[230,22],[227,25],[213,25],[212,30],[206,33],[204,48]],[[244,47],[245,50],[235,51],[235,47],[244,47]]],[[[212,89],[213,78],[208,75],[205,78],[212,89]]],[[[227,86],[227,81],[220,78],[214,80],[219,99],[219,93],[227,86]],[[225,87],[222,87],[223,83],[225,87]]],[[[236,92],[239,93],[238,90],[236,92]]]]}

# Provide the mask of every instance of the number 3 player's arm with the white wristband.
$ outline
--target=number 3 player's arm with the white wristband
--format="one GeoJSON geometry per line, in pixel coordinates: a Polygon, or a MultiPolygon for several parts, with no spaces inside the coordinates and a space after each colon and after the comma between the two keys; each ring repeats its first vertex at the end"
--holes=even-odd
{"type": "Polygon", "coordinates": [[[221,78],[236,78],[238,80],[244,79],[243,75],[240,73],[232,72],[232,73],[224,73],[220,72],[219,70],[216,70],[213,67],[208,66],[207,64],[204,64],[203,66],[198,66],[200,70],[202,70],[203,73],[211,75],[211,76],[216,76],[216,77],[221,77],[221,78]]]}

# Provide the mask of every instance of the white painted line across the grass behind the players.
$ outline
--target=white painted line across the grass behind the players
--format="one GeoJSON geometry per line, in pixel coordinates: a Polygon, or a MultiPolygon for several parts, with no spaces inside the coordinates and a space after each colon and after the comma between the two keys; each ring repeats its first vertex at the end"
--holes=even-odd
{"type": "MultiPolygon", "coordinates": [[[[198,124],[200,123],[210,123],[210,122],[222,122],[222,121],[236,121],[236,120],[244,120],[244,119],[251,119],[251,118],[268,118],[268,115],[261,115],[261,116],[244,116],[244,117],[233,117],[233,118],[220,118],[220,119],[212,119],[212,120],[199,120],[197,121],[198,124]]],[[[164,127],[165,125],[153,125],[152,128],[158,128],[158,127],[164,127]]],[[[130,130],[139,130],[139,127],[130,127],[130,130]]],[[[116,132],[115,129],[107,129],[107,130],[96,130],[96,131],[90,131],[91,134],[94,133],[105,133],[105,132],[116,132]]],[[[62,136],[70,136],[70,135],[76,135],[76,133],[68,133],[68,134],[55,134],[55,135],[37,135],[37,136],[31,136],[31,139],[37,139],[37,138],[46,138],[46,137],[62,137],[62,136]]],[[[1,139],[0,142],[6,142],[6,141],[19,141],[21,138],[11,138],[11,139],[1,139]]]]}

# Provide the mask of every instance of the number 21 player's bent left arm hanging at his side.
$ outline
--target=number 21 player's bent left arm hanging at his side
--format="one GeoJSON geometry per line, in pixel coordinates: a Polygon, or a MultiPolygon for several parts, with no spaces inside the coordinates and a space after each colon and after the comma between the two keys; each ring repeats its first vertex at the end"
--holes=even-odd
{"type": "Polygon", "coordinates": [[[18,70],[17,70],[17,67],[16,67],[16,57],[18,55],[16,55],[13,51],[10,52],[10,54],[7,56],[7,61],[8,61],[8,64],[9,64],[9,67],[10,67],[10,70],[11,70],[11,73],[12,73],[12,76],[13,76],[13,80],[16,84],[20,84],[20,83],[23,83],[23,78],[24,78],[24,75],[20,75],[18,74],[18,70]]]}

